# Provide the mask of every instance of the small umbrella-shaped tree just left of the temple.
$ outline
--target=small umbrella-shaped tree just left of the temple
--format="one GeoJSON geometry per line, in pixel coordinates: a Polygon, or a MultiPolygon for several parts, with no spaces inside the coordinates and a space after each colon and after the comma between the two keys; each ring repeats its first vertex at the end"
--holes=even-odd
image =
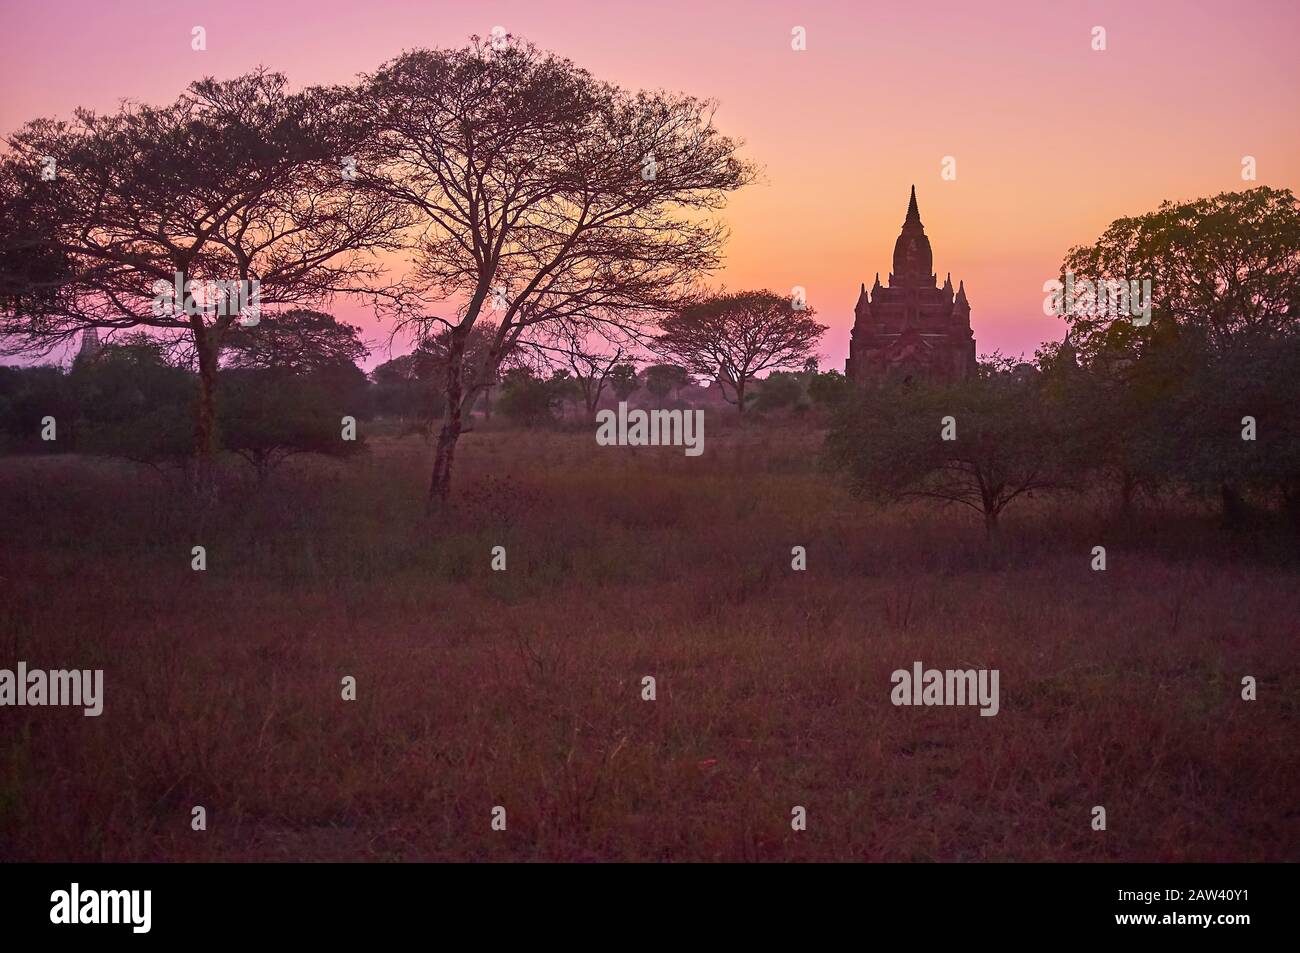
{"type": "Polygon", "coordinates": [[[656,347],[718,381],[723,398],[744,413],[745,390],[759,372],[796,368],[811,356],[826,332],[814,313],[771,291],[714,295],[664,317],[656,347]]]}

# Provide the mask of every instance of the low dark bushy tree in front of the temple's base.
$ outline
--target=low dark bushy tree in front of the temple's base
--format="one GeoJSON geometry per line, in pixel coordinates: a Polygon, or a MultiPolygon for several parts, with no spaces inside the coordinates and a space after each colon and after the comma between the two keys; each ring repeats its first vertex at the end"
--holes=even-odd
{"type": "Polygon", "coordinates": [[[1065,485],[1071,468],[1040,386],[987,371],[948,386],[889,382],[841,410],[827,451],[855,495],[967,506],[993,536],[1008,504],[1065,485]]]}

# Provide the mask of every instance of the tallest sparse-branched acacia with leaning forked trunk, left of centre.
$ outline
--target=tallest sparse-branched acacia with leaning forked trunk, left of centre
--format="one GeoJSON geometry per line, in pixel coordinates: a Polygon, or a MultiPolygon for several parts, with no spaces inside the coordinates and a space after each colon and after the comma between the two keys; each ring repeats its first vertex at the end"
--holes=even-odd
{"type": "Polygon", "coordinates": [[[628,92],[506,38],[415,51],[363,83],[359,182],[422,217],[410,295],[394,315],[448,333],[446,416],[429,508],[446,499],[464,413],[530,328],[581,319],[637,328],[719,264],[710,212],[748,182],[710,103],[628,92]],[[451,316],[432,312],[458,302],[451,316]],[[467,386],[465,345],[497,321],[467,386]]]}

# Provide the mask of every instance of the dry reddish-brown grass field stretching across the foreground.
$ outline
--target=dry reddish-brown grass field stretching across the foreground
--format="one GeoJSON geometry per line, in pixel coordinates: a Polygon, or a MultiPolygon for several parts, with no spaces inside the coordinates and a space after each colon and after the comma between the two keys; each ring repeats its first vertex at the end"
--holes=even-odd
{"type": "Polygon", "coordinates": [[[1294,540],[1061,497],[991,545],[855,502],[822,438],[478,429],[433,521],[417,436],[230,464],[207,515],[134,464],[0,460],[0,653],[105,696],[6,711],[0,857],[1300,859],[1294,540]],[[1000,670],[1000,712],[894,707],[915,660],[1000,670]]]}

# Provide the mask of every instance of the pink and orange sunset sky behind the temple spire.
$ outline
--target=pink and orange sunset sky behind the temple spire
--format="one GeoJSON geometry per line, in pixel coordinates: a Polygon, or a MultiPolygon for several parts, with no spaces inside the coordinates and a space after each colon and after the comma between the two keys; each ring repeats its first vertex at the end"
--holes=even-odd
{"type": "MultiPolygon", "coordinates": [[[[712,281],[806,289],[829,328],[823,368],[844,368],[859,285],[888,280],[911,185],[939,281],[966,282],[979,352],[1028,356],[1065,330],[1043,283],[1110,221],[1300,185],[1296,0],[0,0],[0,134],[259,65],[347,82],[494,26],[601,79],[718,101],[762,176],[723,212],[712,281]]],[[[333,311],[386,341],[355,304],[333,311]]]]}

